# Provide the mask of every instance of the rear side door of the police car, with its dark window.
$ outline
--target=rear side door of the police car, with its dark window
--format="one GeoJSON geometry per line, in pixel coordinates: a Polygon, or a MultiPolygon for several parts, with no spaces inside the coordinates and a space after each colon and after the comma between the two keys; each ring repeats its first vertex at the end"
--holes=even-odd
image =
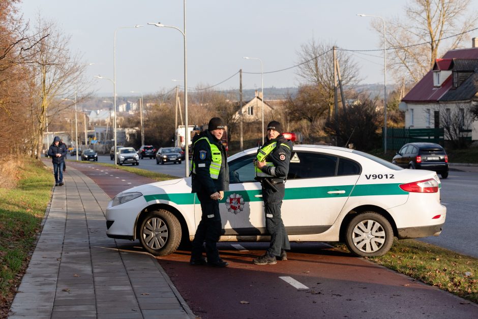
{"type": "Polygon", "coordinates": [[[293,151],[282,203],[289,235],[319,234],[331,227],[360,177],[350,159],[293,151]]]}

